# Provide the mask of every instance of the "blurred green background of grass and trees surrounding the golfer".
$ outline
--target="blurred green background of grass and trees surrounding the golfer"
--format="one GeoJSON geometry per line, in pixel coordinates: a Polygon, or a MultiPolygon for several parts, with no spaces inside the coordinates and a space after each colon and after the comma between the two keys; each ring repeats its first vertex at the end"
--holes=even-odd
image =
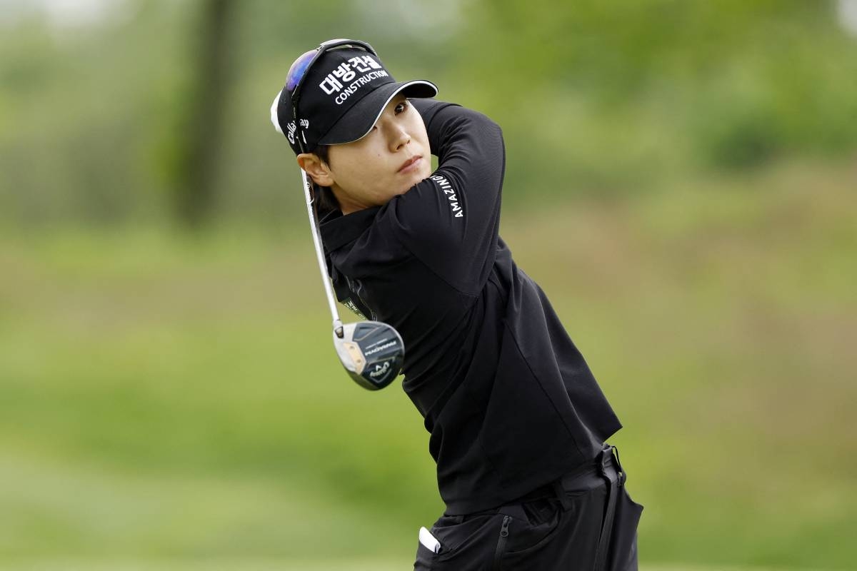
{"type": "Polygon", "coordinates": [[[0,0],[0,568],[411,568],[428,434],[269,122],[339,37],[504,129],[642,568],[857,568],[855,0],[0,0]]]}

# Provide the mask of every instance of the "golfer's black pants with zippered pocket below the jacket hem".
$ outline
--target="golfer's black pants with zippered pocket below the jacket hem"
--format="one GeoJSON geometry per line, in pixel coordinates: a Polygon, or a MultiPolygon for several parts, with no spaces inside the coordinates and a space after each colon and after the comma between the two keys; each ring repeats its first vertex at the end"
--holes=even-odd
{"type": "Polygon", "coordinates": [[[442,515],[431,533],[440,552],[419,544],[415,571],[637,571],[643,506],[605,445],[592,465],[515,503],[476,514],[442,515]]]}

